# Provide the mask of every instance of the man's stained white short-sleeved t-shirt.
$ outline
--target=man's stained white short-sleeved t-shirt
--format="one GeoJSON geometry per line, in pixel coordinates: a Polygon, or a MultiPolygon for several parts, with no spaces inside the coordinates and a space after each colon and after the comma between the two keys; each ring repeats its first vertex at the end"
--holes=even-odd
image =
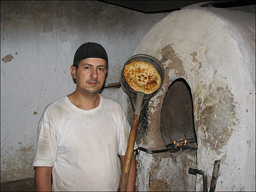
{"type": "Polygon", "coordinates": [[[118,155],[125,155],[129,135],[116,100],[100,96],[97,108],[82,110],[65,96],[41,116],[33,166],[53,166],[55,191],[114,191],[121,173],[118,155]]]}

